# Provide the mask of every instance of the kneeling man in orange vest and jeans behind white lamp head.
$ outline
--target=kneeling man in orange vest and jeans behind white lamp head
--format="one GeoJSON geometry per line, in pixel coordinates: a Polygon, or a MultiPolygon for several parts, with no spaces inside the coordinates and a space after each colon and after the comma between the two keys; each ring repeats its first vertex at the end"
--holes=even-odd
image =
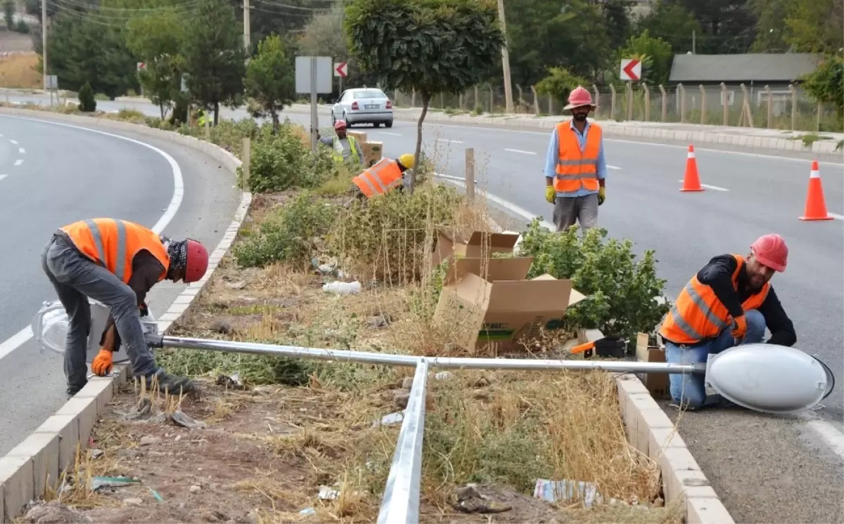
{"type": "MultiPolygon", "coordinates": [[[[757,238],[745,259],[722,254],[709,261],[680,291],[659,334],[666,361],[706,362],[710,354],[734,345],[762,341],[792,346],[797,334],[771,287],[774,271],[786,269],[788,248],[779,235],[757,238]]],[[[671,397],[682,408],[728,404],[720,395],[706,396],[703,375],[669,375],[671,397]]]]}

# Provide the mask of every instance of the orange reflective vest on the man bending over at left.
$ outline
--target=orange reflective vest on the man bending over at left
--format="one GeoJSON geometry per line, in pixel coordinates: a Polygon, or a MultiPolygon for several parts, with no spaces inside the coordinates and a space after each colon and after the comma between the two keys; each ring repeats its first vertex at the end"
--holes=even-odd
{"type": "Polygon", "coordinates": [[[146,249],[164,266],[159,281],[170,267],[170,256],[158,233],[133,222],[115,218],[93,218],[61,228],[82,254],[111,271],[124,284],[132,278],[132,261],[146,249]]]}

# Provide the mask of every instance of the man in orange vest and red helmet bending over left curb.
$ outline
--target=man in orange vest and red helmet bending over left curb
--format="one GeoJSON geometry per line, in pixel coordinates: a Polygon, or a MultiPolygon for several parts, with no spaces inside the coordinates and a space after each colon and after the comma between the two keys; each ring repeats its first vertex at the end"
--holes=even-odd
{"type": "Polygon", "coordinates": [[[88,298],[111,309],[100,353],[91,363],[99,376],[111,372],[112,352],[125,345],[132,372],[161,391],[187,392],[193,384],[156,366],[143,335],[140,313],[149,290],[165,279],[186,283],[208,270],[208,251],[196,240],[176,242],[133,222],[95,218],[73,222],[53,233],[41,265],[68,313],[64,373],[73,396],[88,382],[86,352],[91,329],[88,298]],[[115,333],[116,331],[116,333],[115,333]]]}

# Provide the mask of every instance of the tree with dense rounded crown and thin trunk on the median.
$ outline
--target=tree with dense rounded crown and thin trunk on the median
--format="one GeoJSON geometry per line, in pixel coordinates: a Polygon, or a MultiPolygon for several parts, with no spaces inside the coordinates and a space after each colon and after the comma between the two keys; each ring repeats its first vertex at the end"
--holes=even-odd
{"type": "MultiPolygon", "coordinates": [[[[415,89],[421,97],[417,163],[431,96],[463,93],[490,78],[505,41],[494,0],[354,0],[346,29],[351,51],[381,88],[415,89]]],[[[411,191],[415,184],[412,173],[411,191]]]]}

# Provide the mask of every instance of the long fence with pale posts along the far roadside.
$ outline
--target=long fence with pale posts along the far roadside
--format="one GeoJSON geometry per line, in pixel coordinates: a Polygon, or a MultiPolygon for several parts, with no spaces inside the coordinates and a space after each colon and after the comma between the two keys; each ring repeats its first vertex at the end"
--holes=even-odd
{"type": "MultiPolygon", "coordinates": [[[[747,126],[793,131],[844,131],[832,104],[819,104],[796,84],[592,86],[595,117],[666,123],[747,126]]],[[[515,85],[513,106],[524,115],[563,115],[565,103],[515,85]]],[[[421,107],[413,93],[390,93],[398,107],[421,107]]],[[[504,88],[477,86],[460,95],[437,94],[430,107],[446,112],[504,113],[504,88]]]]}

